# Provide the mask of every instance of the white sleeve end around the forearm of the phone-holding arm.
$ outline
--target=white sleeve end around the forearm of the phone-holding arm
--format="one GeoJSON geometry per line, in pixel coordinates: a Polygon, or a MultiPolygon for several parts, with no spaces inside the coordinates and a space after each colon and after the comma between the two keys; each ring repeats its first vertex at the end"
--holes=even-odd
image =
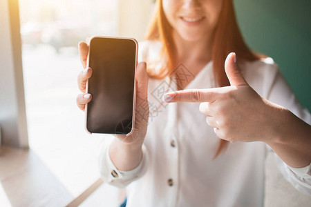
{"type": "Polygon", "coordinates": [[[104,182],[124,188],[130,184],[135,179],[139,179],[144,175],[144,172],[147,170],[148,163],[148,153],[147,148],[142,145],[142,161],[140,164],[133,170],[130,171],[121,171],[118,170],[111,158],[109,156],[109,147],[113,139],[107,139],[102,144],[102,149],[100,150],[100,176],[104,182]]]}

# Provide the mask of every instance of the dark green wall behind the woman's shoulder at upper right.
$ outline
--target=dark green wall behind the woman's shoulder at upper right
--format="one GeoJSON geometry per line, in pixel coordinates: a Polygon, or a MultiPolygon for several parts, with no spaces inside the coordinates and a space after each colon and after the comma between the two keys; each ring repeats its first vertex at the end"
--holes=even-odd
{"type": "Polygon", "coordinates": [[[250,48],[279,65],[296,97],[311,111],[311,1],[234,0],[250,48]]]}

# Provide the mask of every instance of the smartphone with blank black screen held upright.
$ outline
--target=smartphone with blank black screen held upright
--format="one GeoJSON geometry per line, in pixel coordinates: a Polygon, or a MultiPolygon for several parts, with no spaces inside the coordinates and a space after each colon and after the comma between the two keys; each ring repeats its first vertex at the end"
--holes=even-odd
{"type": "Polygon", "coordinates": [[[87,67],[93,75],[86,83],[92,100],[86,104],[86,131],[131,135],[135,124],[138,41],[123,37],[88,39],[87,67]]]}

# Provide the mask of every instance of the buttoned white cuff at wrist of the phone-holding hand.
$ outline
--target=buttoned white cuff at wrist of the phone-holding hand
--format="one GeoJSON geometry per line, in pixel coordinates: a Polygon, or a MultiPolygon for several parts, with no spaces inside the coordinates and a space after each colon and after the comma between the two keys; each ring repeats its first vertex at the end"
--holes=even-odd
{"type": "MultiPolygon", "coordinates": [[[[110,144],[109,144],[110,146],[110,144]]],[[[129,179],[133,179],[133,177],[136,177],[139,172],[142,170],[142,168],[144,168],[144,164],[147,163],[147,152],[146,152],[146,148],[143,145],[142,146],[142,160],[140,161],[140,164],[134,168],[133,170],[129,170],[129,171],[122,171],[122,170],[118,170],[115,165],[113,164],[113,161],[111,160],[111,157],[109,155],[109,147],[106,148],[106,163],[109,166],[109,169],[111,170],[110,175],[109,175],[109,180],[113,181],[115,179],[122,179],[122,180],[129,180],[129,179]]]]}

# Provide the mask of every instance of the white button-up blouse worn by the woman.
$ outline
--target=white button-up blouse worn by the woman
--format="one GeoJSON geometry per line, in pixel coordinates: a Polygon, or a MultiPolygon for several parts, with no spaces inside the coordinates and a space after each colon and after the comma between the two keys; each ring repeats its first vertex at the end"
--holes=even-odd
{"type": "MultiPolygon", "coordinates": [[[[140,61],[159,59],[160,42],[140,43],[140,61]]],[[[243,63],[243,76],[256,92],[278,103],[311,124],[311,115],[297,101],[271,58],[243,63]]],[[[178,67],[178,77],[191,75],[178,67]],[[184,74],[182,74],[184,73],[184,74]]],[[[190,88],[216,87],[212,63],[200,70],[190,88]]],[[[106,139],[100,152],[102,179],[125,187],[127,207],[139,206],[263,206],[265,159],[270,148],[263,142],[229,143],[213,159],[220,139],[199,112],[200,103],[162,103],[166,91],[177,90],[176,80],[149,79],[149,126],[143,145],[143,159],[131,171],[120,171],[109,157],[113,139],[106,139]],[[156,106],[160,106],[156,110],[156,106]]],[[[275,154],[285,179],[299,191],[311,195],[311,164],[292,168],[275,154]]]]}

